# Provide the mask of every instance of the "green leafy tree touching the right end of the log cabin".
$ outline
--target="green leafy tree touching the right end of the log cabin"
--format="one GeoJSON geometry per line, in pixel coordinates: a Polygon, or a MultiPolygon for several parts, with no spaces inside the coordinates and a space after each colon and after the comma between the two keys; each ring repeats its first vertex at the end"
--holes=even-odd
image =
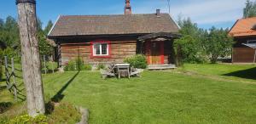
{"type": "Polygon", "coordinates": [[[178,25],[181,27],[179,31],[183,37],[175,40],[174,47],[179,59],[179,65],[183,62],[202,63],[205,54],[202,48],[201,40],[204,39],[203,32],[195,23],[188,18],[178,20],[178,25]]]}

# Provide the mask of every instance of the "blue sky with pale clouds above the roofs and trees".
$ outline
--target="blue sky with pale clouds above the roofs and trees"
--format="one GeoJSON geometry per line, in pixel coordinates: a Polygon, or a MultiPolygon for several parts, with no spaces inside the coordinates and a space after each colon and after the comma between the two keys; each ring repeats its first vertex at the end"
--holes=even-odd
{"type": "MultiPolygon", "coordinates": [[[[133,14],[153,14],[156,8],[168,13],[167,0],[131,0],[133,14]]],[[[242,17],[246,0],[171,0],[174,20],[190,17],[201,28],[231,27],[242,17]]],[[[44,25],[58,15],[124,14],[125,0],[37,0],[37,13],[44,25]]],[[[15,0],[1,0],[0,18],[17,17],[15,0]]]]}

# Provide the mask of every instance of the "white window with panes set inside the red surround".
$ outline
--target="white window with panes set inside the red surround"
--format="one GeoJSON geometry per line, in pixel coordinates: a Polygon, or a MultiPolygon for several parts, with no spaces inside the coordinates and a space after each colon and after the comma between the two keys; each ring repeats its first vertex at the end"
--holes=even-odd
{"type": "Polygon", "coordinates": [[[93,43],[93,56],[108,56],[108,43],[96,42],[93,43]]]}

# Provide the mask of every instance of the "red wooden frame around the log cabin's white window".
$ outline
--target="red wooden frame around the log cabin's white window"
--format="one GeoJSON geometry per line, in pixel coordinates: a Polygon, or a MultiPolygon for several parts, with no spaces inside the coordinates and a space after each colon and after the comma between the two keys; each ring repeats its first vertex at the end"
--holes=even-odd
{"type": "Polygon", "coordinates": [[[90,58],[111,58],[111,42],[106,40],[96,40],[90,42],[90,58]],[[93,45],[95,43],[107,43],[108,44],[108,55],[94,55],[93,45]]]}

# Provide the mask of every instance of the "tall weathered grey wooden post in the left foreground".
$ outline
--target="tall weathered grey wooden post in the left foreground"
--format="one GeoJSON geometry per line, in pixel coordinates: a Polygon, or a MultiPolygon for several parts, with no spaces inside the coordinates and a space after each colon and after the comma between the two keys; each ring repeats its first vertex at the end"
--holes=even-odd
{"type": "Polygon", "coordinates": [[[23,80],[26,87],[27,112],[44,114],[44,90],[38,51],[38,29],[35,0],[16,0],[19,14],[23,80]]]}

